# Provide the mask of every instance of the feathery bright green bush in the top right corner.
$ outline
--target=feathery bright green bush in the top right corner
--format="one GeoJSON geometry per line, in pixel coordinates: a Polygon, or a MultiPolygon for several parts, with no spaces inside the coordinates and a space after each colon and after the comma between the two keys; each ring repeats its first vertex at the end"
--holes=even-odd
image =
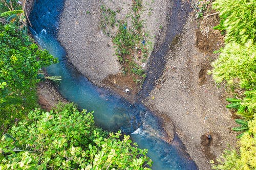
{"type": "Polygon", "coordinates": [[[255,42],[256,35],[256,1],[255,0],[216,0],[213,7],[225,18],[223,27],[226,40],[246,43],[251,39],[255,42]]]}

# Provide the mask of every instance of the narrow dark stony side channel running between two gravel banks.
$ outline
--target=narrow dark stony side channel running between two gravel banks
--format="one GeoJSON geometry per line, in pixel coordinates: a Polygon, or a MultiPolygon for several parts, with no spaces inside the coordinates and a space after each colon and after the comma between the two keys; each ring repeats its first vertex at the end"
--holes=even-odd
{"type": "Polygon", "coordinates": [[[155,87],[157,80],[161,77],[166,59],[165,56],[169,49],[177,43],[177,38],[182,33],[183,26],[191,12],[190,3],[181,0],[175,0],[174,6],[170,10],[170,18],[166,31],[164,42],[160,45],[159,50],[154,49],[148,63],[146,70],[146,79],[143,83],[142,89],[138,94],[138,100],[142,101],[150,94],[155,87]]]}

